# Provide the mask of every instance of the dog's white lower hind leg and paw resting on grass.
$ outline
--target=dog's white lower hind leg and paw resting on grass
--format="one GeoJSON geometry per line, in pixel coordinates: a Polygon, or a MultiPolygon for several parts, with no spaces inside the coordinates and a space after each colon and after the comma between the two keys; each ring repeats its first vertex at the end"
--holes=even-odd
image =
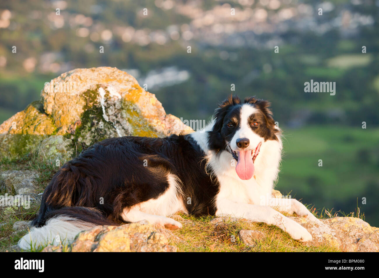
{"type": "Polygon", "coordinates": [[[122,211],[121,217],[126,222],[137,222],[141,220],[147,220],[152,225],[157,225],[158,227],[166,227],[170,230],[177,230],[182,228],[182,224],[178,221],[175,221],[172,218],[144,213],[139,210],[139,208],[124,208],[122,211]]]}

